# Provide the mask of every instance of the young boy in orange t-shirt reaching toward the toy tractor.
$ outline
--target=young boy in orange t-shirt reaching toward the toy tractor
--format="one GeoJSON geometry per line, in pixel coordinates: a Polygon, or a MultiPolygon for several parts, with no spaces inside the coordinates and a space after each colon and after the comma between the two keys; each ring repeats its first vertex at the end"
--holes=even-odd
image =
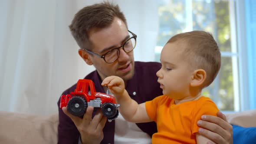
{"type": "Polygon", "coordinates": [[[127,121],[157,123],[152,144],[206,144],[210,140],[200,134],[197,121],[201,115],[217,115],[219,110],[201,92],[215,79],[220,59],[220,50],[210,33],[181,33],[171,37],[161,52],[162,67],[156,75],[164,95],[138,105],[121,78],[107,77],[102,85],[115,95],[127,121]]]}

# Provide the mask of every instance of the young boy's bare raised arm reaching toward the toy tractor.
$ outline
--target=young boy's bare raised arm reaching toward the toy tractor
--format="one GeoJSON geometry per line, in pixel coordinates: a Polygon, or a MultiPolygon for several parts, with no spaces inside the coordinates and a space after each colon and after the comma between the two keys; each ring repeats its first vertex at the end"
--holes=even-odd
{"type": "Polygon", "coordinates": [[[108,86],[112,94],[115,95],[117,103],[120,104],[118,110],[126,121],[136,123],[152,121],[148,117],[145,103],[138,105],[136,101],[130,98],[125,90],[123,79],[118,76],[109,76],[102,81],[102,85],[108,86]]]}

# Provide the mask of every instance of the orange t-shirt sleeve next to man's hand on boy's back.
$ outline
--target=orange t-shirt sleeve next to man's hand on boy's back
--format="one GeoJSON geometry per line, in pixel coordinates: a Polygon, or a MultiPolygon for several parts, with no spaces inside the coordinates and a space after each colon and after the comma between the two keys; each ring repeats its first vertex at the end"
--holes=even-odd
{"type": "Polygon", "coordinates": [[[213,115],[217,116],[219,109],[217,105],[210,100],[210,98],[203,98],[202,101],[198,101],[192,113],[191,131],[192,134],[196,134],[200,128],[197,125],[197,121],[201,119],[202,115],[213,115]]]}

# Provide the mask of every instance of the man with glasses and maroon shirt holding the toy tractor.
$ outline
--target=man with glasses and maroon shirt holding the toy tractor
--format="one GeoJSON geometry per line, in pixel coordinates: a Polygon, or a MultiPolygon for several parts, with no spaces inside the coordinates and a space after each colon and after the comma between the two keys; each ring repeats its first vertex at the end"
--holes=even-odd
{"type": "MultiPolygon", "coordinates": [[[[138,103],[162,95],[155,75],[161,65],[134,61],[132,50],[137,36],[128,30],[125,16],[117,5],[104,2],[84,7],[75,14],[69,28],[81,48],[79,55],[96,68],[85,77],[95,83],[96,92],[106,92],[101,86],[102,80],[116,75],[125,81],[126,90],[138,103]]],[[[69,94],[75,87],[63,94],[69,94]]],[[[92,113],[93,108],[88,107],[81,119],[71,115],[66,107],[59,108],[59,144],[149,144],[152,134],[157,132],[154,122],[128,123],[121,115],[107,122],[100,110],[93,118],[92,113]]],[[[232,126],[222,113],[218,116],[202,117],[204,121],[198,121],[198,125],[205,129],[200,134],[219,144],[232,143],[232,126]]]]}

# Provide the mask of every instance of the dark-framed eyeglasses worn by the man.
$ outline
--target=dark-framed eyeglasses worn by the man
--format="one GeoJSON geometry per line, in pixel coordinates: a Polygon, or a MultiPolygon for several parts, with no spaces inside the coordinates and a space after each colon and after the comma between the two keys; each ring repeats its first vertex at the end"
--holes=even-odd
{"type": "Polygon", "coordinates": [[[115,61],[118,59],[118,57],[119,57],[120,48],[123,48],[124,51],[125,51],[126,53],[128,53],[128,52],[131,52],[131,51],[135,48],[135,46],[136,46],[136,38],[137,38],[137,35],[135,35],[134,33],[132,33],[132,32],[129,31],[129,30],[128,30],[128,32],[131,33],[132,36],[131,36],[129,39],[127,39],[127,40],[125,41],[125,43],[123,43],[121,46],[119,46],[119,47],[117,47],[117,48],[115,48],[115,49],[111,49],[110,51],[106,52],[106,53],[103,54],[103,55],[98,55],[97,53],[91,52],[91,51],[89,51],[89,50],[87,50],[87,49],[85,49],[85,51],[86,51],[86,52],[89,52],[89,53],[91,53],[91,54],[93,54],[93,55],[95,55],[95,56],[98,56],[98,57],[100,57],[100,58],[102,58],[102,59],[104,59],[105,62],[107,62],[107,63],[113,63],[113,62],[115,62],[115,61]]]}

